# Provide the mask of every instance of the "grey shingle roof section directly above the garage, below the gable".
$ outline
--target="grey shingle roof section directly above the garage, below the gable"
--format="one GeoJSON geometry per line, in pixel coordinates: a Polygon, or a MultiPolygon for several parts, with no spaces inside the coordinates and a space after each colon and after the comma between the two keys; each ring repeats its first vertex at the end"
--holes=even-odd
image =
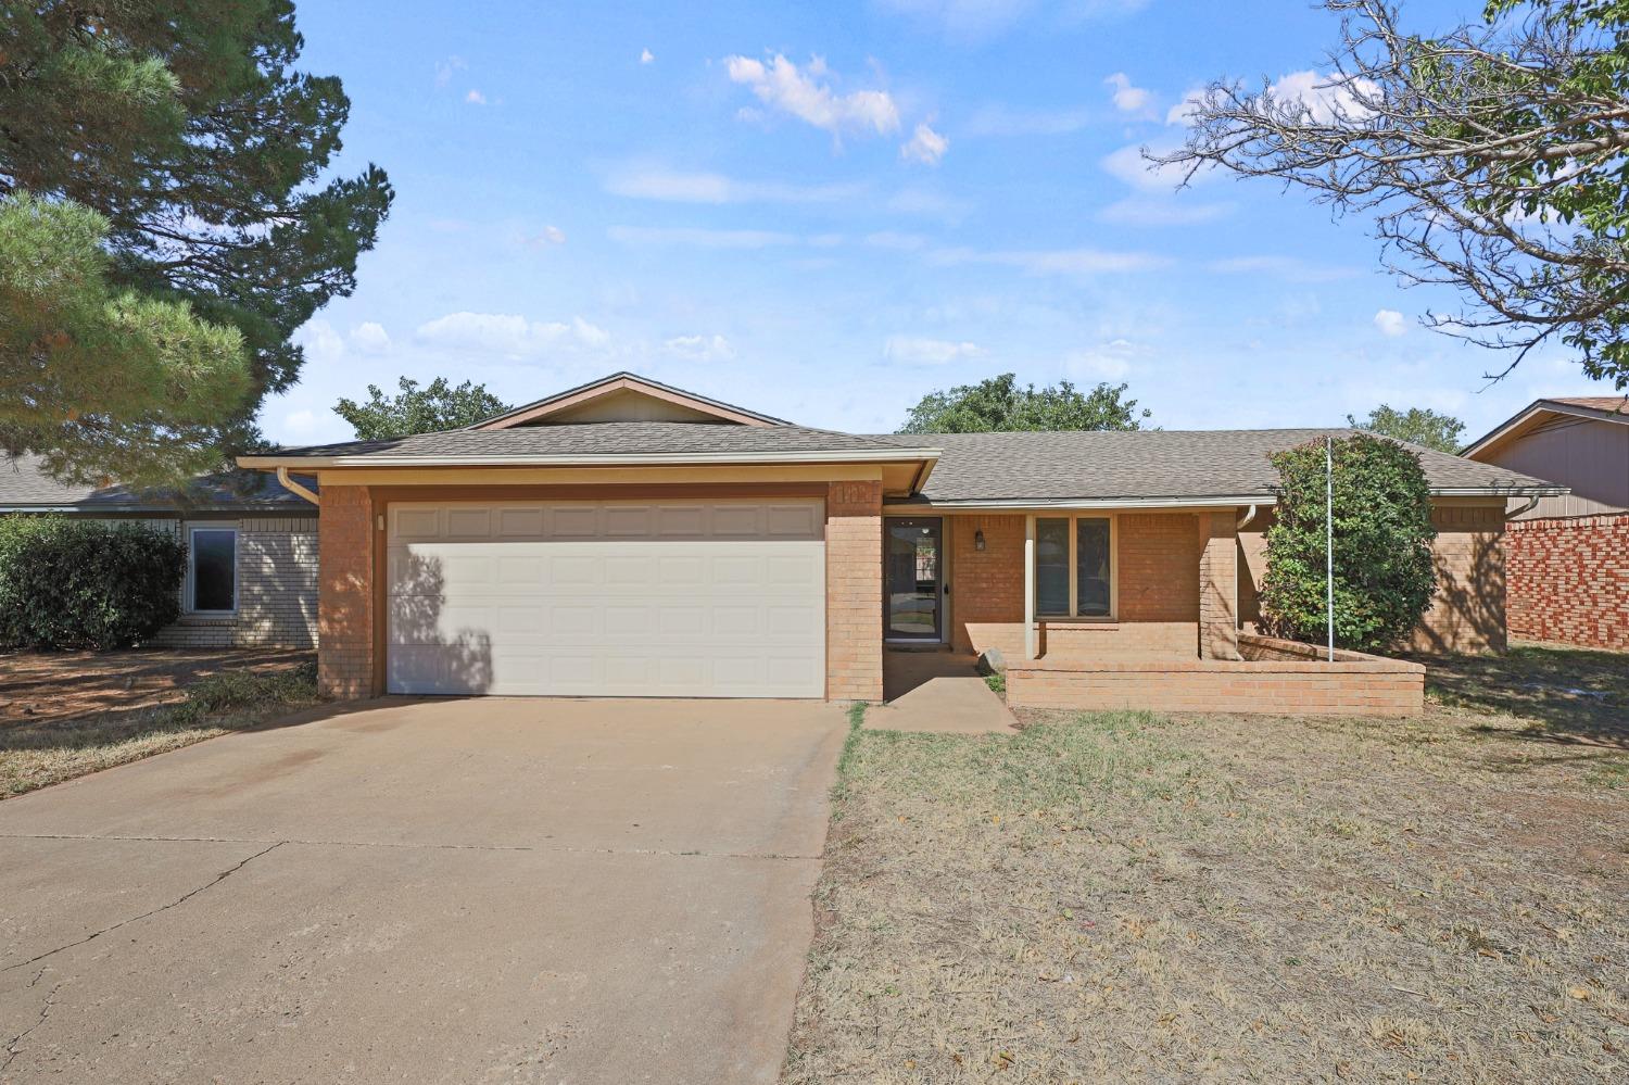
{"type": "Polygon", "coordinates": [[[282,448],[277,456],[658,456],[686,453],[898,451],[932,448],[896,437],[855,437],[801,425],[709,425],[704,422],[585,422],[512,430],[446,430],[380,441],[282,448]]]}

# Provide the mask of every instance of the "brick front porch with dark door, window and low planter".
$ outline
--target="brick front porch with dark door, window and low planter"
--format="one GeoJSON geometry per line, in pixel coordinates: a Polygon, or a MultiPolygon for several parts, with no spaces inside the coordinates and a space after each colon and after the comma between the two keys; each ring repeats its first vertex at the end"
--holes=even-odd
{"type": "MultiPolygon", "coordinates": [[[[979,512],[889,516],[889,645],[938,645],[971,673],[1007,665],[1007,702],[1038,709],[1148,709],[1406,717],[1422,710],[1417,663],[1256,635],[1240,621],[1254,575],[1235,507],[979,512]]],[[[911,653],[885,652],[893,701],[911,653]]]]}

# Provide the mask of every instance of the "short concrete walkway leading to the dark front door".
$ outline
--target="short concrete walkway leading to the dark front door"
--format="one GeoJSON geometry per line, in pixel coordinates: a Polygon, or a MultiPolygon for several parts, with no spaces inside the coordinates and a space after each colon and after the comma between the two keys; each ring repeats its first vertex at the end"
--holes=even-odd
{"type": "Polygon", "coordinates": [[[974,657],[953,652],[885,652],[888,704],[865,714],[865,725],[889,731],[948,735],[1012,733],[1013,714],[974,670],[974,657]]]}

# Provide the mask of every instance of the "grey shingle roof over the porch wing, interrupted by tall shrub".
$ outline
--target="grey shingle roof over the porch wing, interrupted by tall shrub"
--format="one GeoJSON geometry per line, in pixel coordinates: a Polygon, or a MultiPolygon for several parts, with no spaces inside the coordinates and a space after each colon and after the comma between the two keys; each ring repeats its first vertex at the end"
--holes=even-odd
{"type": "MultiPolygon", "coordinates": [[[[1274,451],[1355,430],[1132,430],[1047,433],[912,433],[942,448],[922,499],[1114,500],[1271,497],[1274,451]]],[[[1505,468],[1412,446],[1435,490],[1549,487],[1505,468]]]]}

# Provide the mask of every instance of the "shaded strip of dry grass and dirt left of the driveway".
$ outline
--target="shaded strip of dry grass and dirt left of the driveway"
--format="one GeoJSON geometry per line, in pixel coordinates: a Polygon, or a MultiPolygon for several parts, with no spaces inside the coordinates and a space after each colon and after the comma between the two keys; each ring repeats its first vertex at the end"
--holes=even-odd
{"type": "Polygon", "coordinates": [[[261,727],[316,701],[316,666],[303,663],[215,673],[176,704],[13,723],[0,728],[0,798],[261,727]]]}

